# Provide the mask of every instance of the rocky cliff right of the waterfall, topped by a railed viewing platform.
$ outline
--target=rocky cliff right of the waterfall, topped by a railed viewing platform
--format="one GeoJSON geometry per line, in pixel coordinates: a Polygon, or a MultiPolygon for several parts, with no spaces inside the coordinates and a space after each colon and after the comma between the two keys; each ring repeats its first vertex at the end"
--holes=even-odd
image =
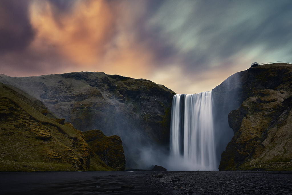
{"type": "Polygon", "coordinates": [[[217,112],[230,111],[234,131],[219,170],[292,170],[291,64],[249,68],[212,92],[217,112]]]}

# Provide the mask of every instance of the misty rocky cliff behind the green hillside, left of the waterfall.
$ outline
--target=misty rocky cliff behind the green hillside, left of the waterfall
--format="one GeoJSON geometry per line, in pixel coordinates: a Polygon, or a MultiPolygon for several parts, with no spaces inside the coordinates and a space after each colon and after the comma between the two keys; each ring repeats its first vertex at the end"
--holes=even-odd
{"type": "Polygon", "coordinates": [[[41,100],[58,118],[65,118],[78,130],[98,129],[107,136],[120,136],[130,167],[137,168],[141,148],[168,145],[175,93],[163,85],[93,72],[0,75],[0,82],[41,100]]]}

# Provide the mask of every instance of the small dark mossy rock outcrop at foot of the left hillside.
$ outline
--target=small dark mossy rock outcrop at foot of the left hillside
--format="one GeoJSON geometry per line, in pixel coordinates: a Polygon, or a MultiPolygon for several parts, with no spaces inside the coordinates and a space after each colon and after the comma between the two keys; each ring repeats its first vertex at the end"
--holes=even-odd
{"type": "MultiPolygon", "coordinates": [[[[126,168],[126,158],[121,138],[117,135],[105,136],[100,130],[83,132],[85,140],[91,149],[91,157],[100,157],[113,170],[123,171],[126,168]]],[[[94,166],[94,165],[91,165],[94,166]]]]}

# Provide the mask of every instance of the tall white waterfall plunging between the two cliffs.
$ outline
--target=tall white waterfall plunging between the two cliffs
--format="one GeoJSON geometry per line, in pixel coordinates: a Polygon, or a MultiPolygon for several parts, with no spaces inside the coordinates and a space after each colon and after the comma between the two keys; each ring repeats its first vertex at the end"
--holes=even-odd
{"type": "Polygon", "coordinates": [[[172,170],[218,170],[211,92],[173,97],[170,137],[172,170]]]}

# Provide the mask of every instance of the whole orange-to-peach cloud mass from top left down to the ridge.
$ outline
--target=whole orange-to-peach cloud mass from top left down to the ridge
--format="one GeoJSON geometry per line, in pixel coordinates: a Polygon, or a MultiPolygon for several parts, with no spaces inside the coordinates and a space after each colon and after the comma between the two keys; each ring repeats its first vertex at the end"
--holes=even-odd
{"type": "Polygon", "coordinates": [[[135,29],[145,6],[133,6],[137,17],[123,2],[78,1],[70,12],[59,13],[49,2],[33,1],[30,18],[37,34],[31,48],[69,60],[73,65],[63,67],[66,71],[147,78],[154,54],[135,29]]]}

